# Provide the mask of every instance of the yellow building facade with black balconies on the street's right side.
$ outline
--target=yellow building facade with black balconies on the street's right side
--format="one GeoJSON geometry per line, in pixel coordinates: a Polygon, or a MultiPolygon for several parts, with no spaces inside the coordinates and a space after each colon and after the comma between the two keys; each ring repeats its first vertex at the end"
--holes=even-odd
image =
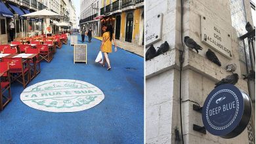
{"type": "Polygon", "coordinates": [[[144,45],[143,0],[102,0],[100,6],[100,24],[111,24],[117,41],[144,45]]]}

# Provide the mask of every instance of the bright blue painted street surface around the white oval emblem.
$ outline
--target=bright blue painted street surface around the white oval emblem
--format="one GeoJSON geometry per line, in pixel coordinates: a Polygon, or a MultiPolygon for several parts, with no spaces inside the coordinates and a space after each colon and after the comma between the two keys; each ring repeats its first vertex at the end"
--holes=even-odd
{"type": "Polygon", "coordinates": [[[51,63],[41,62],[41,73],[28,86],[51,79],[85,81],[100,88],[104,100],[74,113],[39,111],[22,103],[24,88],[14,82],[12,101],[0,112],[0,143],[144,143],[143,58],[121,48],[114,52],[113,46],[107,71],[95,63],[101,41],[85,40],[87,64],[74,64],[74,46],[68,41],[51,63]]]}

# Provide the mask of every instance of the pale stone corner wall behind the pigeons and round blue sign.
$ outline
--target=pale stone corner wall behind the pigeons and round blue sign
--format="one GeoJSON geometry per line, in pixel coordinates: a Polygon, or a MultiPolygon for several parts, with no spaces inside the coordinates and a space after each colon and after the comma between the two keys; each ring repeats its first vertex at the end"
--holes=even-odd
{"type": "Polygon", "coordinates": [[[165,41],[170,47],[166,54],[160,54],[145,63],[145,142],[182,143],[183,137],[184,143],[191,144],[255,143],[255,80],[246,81],[242,76],[249,73],[250,69],[255,71],[255,63],[249,63],[248,59],[252,57],[249,46],[240,39],[247,33],[246,22],[253,24],[250,1],[191,0],[181,4],[181,1],[149,0],[145,1],[145,5],[146,48],[154,45],[158,50],[157,47],[165,41]],[[209,23],[205,25],[203,20],[209,20],[209,23]],[[221,27],[220,35],[228,33],[224,35],[227,38],[223,39],[223,43],[229,43],[227,48],[232,55],[215,50],[214,46],[203,41],[203,29],[211,24],[221,27]],[[190,50],[184,45],[185,36],[194,39],[203,50],[198,53],[190,50]],[[221,66],[207,59],[205,53],[208,49],[215,52],[221,66]],[[232,139],[224,139],[209,132],[202,134],[194,130],[194,125],[203,128],[203,122],[202,113],[194,111],[193,104],[198,103],[202,107],[215,83],[232,74],[225,69],[230,63],[236,63],[234,73],[240,76],[236,86],[249,94],[252,100],[251,121],[242,134],[232,139]]]}

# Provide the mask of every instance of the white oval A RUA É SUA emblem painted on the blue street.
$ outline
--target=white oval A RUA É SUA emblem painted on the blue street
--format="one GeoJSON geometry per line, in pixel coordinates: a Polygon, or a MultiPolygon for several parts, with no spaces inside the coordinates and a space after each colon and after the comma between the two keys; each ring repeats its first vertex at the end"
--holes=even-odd
{"type": "Polygon", "coordinates": [[[34,109],[50,112],[75,112],[90,109],[103,99],[103,92],[88,82],[53,79],[26,88],[20,99],[34,109]]]}

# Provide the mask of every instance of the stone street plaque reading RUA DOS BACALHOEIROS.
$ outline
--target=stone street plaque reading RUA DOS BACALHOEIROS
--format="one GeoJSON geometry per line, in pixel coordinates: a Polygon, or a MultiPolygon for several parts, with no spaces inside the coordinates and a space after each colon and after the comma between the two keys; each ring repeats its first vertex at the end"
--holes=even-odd
{"type": "MultiPolygon", "coordinates": [[[[224,26],[224,24],[222,26],[224,26]]],[[[217,26],[210,18],[201,16],[201,33],[202,43],[217,50],[217,52],[223,54],[226,58],[232,58],[230,32],[217,26]]]]}

